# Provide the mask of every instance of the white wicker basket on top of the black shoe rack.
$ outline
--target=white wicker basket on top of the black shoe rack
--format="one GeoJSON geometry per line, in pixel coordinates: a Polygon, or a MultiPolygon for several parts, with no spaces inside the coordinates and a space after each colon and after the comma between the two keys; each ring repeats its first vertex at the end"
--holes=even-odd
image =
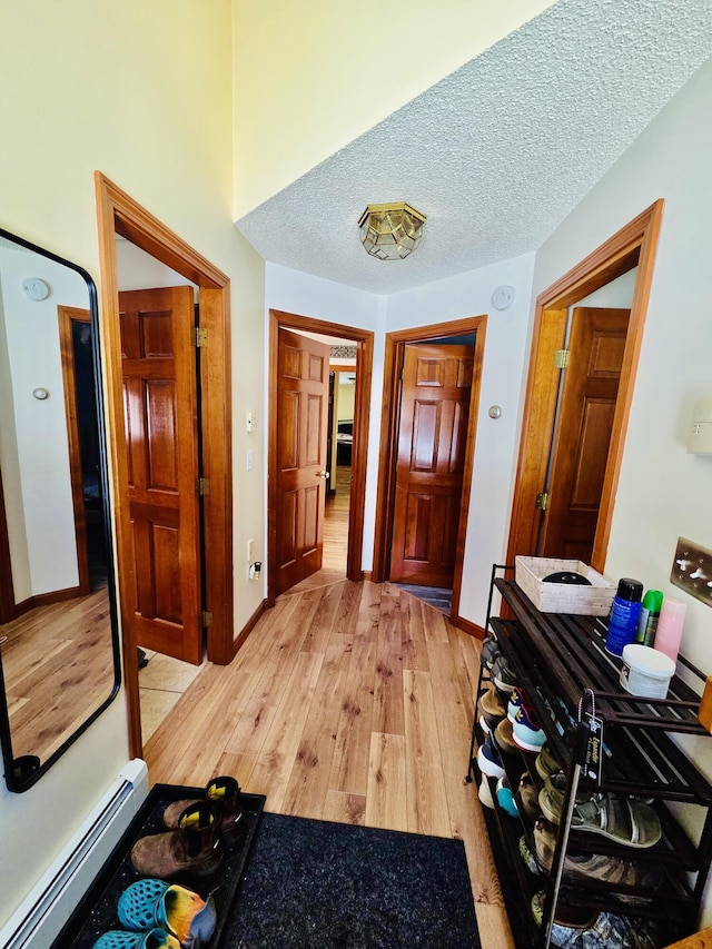
{"type": "Polygon", "coordinates": [[[554,557],[515,557],[514,576],[518,586],[542,613],[577,613],[607,616],[616,587],[583,561],[554,557]],[[585,576],[591,586],[574,583],[544,583],[544,577],[558,571],[585,576]]]}

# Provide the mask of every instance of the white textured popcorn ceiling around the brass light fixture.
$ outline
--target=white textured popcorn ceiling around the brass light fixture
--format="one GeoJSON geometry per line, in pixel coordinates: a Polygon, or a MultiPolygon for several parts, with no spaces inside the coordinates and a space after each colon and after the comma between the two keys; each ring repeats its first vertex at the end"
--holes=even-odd
{"type": "Polygon", "coordinates": [[[711,55],[710,0],[560,0],[237,227],[266,260],[376,294],[535,250],[711,55]],[[427,215],[423,240],[370,258],[358,218],[397,200],[427,215]]]}

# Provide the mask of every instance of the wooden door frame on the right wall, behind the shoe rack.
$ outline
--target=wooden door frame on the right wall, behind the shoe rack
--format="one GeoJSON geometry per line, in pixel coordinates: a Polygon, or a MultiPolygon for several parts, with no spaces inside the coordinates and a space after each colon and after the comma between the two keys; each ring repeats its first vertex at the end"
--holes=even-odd
{"type": "Polygon", "coordinates": [[[637,267],[591,557],[595,570],[603,571],[605,566],[663,205],[662,199],[656,200],[536,298],[507,563],[514,563],[517,554],[531,555],[536,550],[540,520],[536,495],[546,476],[558,391],[560,369],[554,367],[554,354],[563,346],[567,309],[637,267]]]}

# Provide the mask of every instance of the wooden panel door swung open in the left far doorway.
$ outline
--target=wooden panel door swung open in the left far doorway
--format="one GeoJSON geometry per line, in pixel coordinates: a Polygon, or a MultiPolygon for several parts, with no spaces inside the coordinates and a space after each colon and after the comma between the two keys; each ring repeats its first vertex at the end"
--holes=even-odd
{"type": "Polygon", "coordinates": [[[329,347],[279,329],[276,592],[322,567],[329,347]]]}

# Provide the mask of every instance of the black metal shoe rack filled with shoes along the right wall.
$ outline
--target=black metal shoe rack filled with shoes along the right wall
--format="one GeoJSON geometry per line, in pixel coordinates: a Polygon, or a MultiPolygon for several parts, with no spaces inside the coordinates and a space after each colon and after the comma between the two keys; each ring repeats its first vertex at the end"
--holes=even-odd
{"type": "MultiPolygon", "coordinates": [[[[524,834],[530,851],[535,852],[534,822],[525,814],[512,818],[501,810],[496,805],[496,781],[487,779],[495,808],[483,811],[516,945],[522,949],[547,947],[550,923],[575,908],[657,920],[664,932],[662,945],[668,945],[699,928],[700,902],[712,858],[712,787],[683,750],[690,741],[685,735],[695,737],[698,754],[712,750],[712,745],[700,748],[701,739],[710,739],[698,721],[705,675],[679,656],[679,670],[684,668],[685,679],[699,684],[700,694],[675,675],[664,700],[630,695],[619,682],[621,661],[604,651],[605,621],[541,613],[516,583],[506,579],[513,571],[501,564],[493,567],[486,631],[496,636],[527,703],[536,711],[551,751],[563,767],[567,788],[562,813],[568,815],[558,827],[551,872],[533,874],[520,856],[520,839],[524,834]],[[492,615],[496,593],[508,607],[501,612],[511,619],[492,615]],[[591,695],[596,715],[604,722],[603,763],[597,780],[581,777],[578,781],[576,761],[585,747],[585,729],[578,723],[580,701],[591,695]],[[662,840],[652,848],[632,849],[599,833],[570,832],[576,790],[652,800],[663,830],[662,840]],[[684,830],[683,822],[695,831],[684,830]],[[594,879],[582,881],[578,877],[568,880],[563,869],[568,853],[605,853],[657,863],[663,882],[655,890],[645,890],[594,879]],[[531,898],[537,890],[545,893],[541,925],[531,912],[531,898]]],[[[481,669],[477,696],[487,684],[486,675],[486,670],[481,669]]],[[[501,698],[506,708],[508,695],[501,698]]],[[[483,777],[476,752],[484,738],[475,710],[467,781],[483,777]]],[[[534,767],[535,754],[522,752],[521,760],[511,754],[503,758],[513,791],[525,770],[536,789],[542,788],[534,767]]]]}

